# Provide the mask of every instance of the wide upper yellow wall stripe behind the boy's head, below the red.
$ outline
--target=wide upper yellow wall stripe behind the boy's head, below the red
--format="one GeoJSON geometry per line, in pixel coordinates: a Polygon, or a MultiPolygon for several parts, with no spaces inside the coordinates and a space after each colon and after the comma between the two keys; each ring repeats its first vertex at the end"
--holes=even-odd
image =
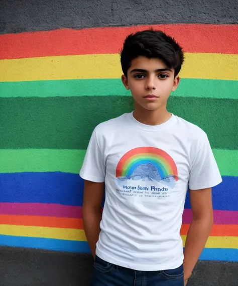
{"type": "MultiPolygon", "coordinates": [[[[0,81],[120,78],[118,54],[36,57],[0,60],[0,81]]],[[[186,53],[180,76],[237,80],[238,55],[186,53]]],[[[192,92],[192,91],[191,91],[192,92]]]]}

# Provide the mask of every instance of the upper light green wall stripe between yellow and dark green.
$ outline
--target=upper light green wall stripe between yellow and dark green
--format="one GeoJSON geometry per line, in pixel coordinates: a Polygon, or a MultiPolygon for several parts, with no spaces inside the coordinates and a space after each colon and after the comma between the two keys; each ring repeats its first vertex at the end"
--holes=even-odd
{"type": "MultiPolygon", "coordinates": [[[[238,80],[182,78],[177,97],[238,99],[238,80]]],[[[0,82],[0,97],[129,96],[121,79],[72,79],[0,82]]]]}

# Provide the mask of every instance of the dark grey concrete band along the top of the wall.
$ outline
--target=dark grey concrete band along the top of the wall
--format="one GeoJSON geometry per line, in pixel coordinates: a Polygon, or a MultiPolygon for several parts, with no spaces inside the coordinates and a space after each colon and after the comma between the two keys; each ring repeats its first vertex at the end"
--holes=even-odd
{"type": "Polygon", "coordinates": [[[236,0],[2,0],[0,9],[3,33],[158,23],[237,24],[238,20],[236,0]]]}

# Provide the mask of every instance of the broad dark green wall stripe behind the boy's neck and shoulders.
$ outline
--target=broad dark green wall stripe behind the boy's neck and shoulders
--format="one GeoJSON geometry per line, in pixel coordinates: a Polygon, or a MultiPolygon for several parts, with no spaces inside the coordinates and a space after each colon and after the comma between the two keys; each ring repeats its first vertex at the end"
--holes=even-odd
{"type": "MultiPolygon", "coordinates": [[[[86,149],[97,124],[132,110],[132,97],[1,98],[0,149],[86,149]]],[[[237,100],[171,97],[168,110],[201,127],[212,148],[238,149],[237,100]]]]}

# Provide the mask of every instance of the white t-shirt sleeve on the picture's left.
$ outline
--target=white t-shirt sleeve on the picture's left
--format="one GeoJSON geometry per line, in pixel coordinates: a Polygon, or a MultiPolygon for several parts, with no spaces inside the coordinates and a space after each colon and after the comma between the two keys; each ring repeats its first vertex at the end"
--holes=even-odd
{"type": "Polygon", "coordinates": [[[96,129],[91,135],[79,175],[83,179],[93,182],[104,182],[105,180],[105,162],[102,150],[99,148],[96,129]]]}

